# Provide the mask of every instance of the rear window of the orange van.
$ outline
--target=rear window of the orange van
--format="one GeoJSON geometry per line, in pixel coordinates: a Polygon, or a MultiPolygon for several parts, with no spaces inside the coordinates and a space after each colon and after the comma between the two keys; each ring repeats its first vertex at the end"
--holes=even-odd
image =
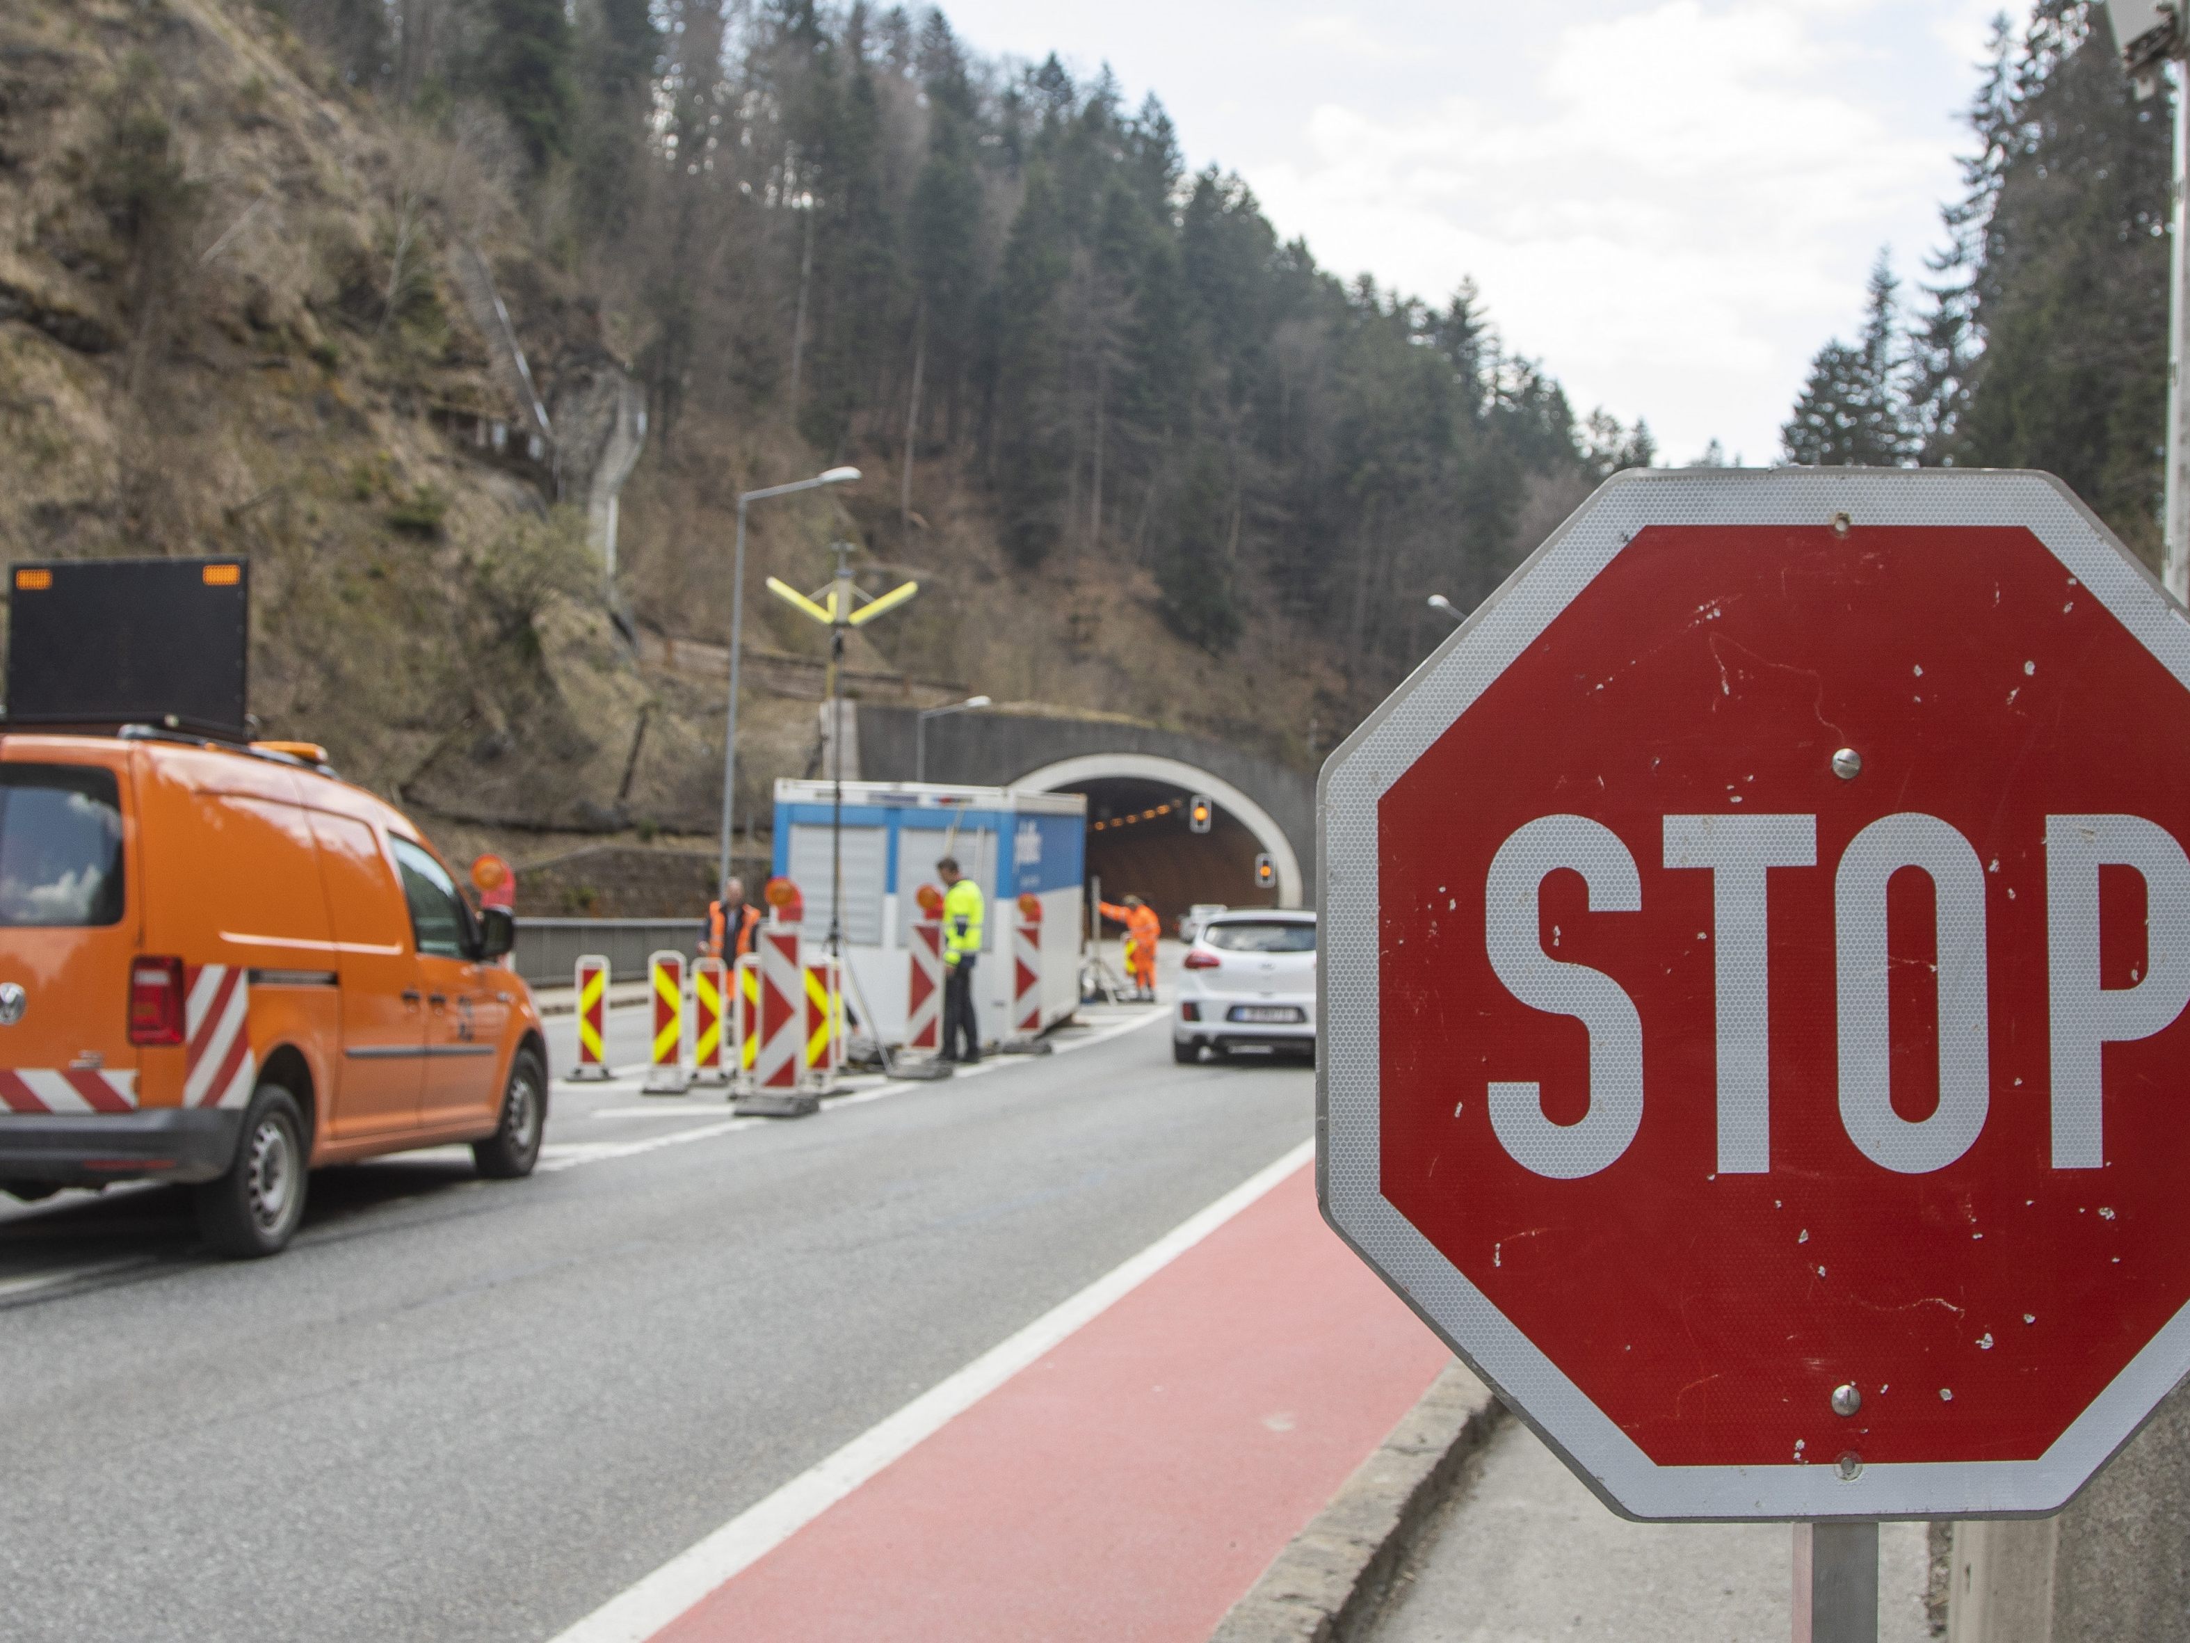
{"type": "Polygon", "coordinates": [[[114,771],[0,765],[0,927],[116,924],[120,916],[114,771]]]}

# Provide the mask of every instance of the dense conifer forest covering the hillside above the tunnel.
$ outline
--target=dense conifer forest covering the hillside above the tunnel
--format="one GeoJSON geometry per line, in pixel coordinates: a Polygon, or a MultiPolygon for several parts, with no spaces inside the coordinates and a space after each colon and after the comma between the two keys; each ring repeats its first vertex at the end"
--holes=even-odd
{"type": "Polygon", "coordinates": [[[471,105],[517,134],[539,250],[598,289],[653,407],[642,620],[721,631],[721,576],[690,563],[721,491],[852,460],[869,548],[970,576],[900,662],[990,688],[955,631],[1093,635],[1174,688],[1029,686],[1207,712],[1191,664],[1106,607],[1139,589],[1191,653],[1275,662],[1288,699],[1316,681],[1283,729],[1253,725],[1253,690],[1231,703],[1305,758],[1312,719],[1327,743],[1439,633],[1426,591],[1474,600],[1647,456],[1640,429],[1577,427],[1467,287],[1426,305],[1338,278],[1235,177],[1189,175],[1154,96],[983,61],[933,9],[269,2],[390,118],[471,105]],[[970,537],[1001,556],[968,561],[970,537]]]}

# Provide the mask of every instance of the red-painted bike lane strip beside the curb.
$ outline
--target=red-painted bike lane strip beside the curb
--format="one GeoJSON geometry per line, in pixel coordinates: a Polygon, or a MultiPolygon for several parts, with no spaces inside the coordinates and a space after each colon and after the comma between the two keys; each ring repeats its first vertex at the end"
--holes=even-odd
{"type": "Polygon", "coordinates": [[[1448,1360],[1303,1165],[657,1636],[1207,1639],[1448,1360]]]}

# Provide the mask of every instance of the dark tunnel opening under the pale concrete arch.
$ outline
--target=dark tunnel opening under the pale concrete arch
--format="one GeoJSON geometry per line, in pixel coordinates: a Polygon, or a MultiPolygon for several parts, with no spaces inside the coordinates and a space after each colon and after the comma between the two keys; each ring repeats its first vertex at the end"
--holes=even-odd
{"type": "Polygon", "coordinates": [[[1275,907],[1277,889],[1255,887],[1261,841],[1248,826],[1215,806],[1209,832],[1187,819],[1191,793],[1174,782],[1139,775],[1099,775],[1051,789],[1084,793],[1088,802],[1088,885],[1102,881],[1104,900],[1137,894],[1163,920],[1165,933],[1194,903],[1275,907]]]}

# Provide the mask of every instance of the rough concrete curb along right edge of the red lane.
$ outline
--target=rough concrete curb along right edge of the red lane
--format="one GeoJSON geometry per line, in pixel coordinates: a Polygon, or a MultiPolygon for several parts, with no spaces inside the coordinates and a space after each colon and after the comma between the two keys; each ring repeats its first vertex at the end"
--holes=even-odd
{"type": "Polygon", "coordinates": [[[1430,1385],[1332,1503],[1292,1538],[1211,1643],[1347,1643],[1505,1415],[1459,1363],[1430,1385]]]}

